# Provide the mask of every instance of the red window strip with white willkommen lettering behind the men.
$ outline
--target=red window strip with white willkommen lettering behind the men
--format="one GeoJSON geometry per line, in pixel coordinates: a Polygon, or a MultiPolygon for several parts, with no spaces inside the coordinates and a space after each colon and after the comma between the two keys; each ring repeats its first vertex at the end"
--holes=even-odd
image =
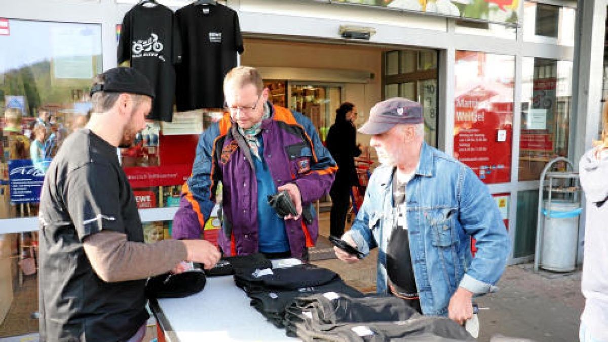
{"type": "Polygon", "coordinates": [[[192,172],[192,165],[176,164],[167,166],[125,167],[126,178],[131,187],[176,186],[182,185],[192,172]]]}

